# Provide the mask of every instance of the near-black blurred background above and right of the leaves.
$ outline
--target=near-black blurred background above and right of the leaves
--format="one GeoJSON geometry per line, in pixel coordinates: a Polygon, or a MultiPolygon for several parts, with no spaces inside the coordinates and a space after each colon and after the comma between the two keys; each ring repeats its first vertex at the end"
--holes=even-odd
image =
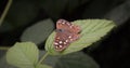
{"type": "MultiPolygon", "coordinates": [[[[0,0],[0,15],[6,2],[0,0]]],[[[27,27],[46,18],[51,18],[54,24],[58,18],[70,22],[87,18],[114,21],[117,28],[95,43],[96,47],[92,45],[83,52],[92,56],[101,68],[130,68],[130,0],[13,0],[0,26],[0,46],[12,46],[21,41],[27,27]]]]}

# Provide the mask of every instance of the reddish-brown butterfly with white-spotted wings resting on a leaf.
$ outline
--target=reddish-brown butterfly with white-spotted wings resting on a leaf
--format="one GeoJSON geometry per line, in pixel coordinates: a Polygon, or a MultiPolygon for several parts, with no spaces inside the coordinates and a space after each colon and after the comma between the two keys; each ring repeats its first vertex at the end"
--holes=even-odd
{"type": "Polygon", "coordinates": [[[57,52],[65,50],[72,42],[80,38],[80,27],[65,19],[56,22],[56,35],[54,38],[54,49],[57,52]]]}

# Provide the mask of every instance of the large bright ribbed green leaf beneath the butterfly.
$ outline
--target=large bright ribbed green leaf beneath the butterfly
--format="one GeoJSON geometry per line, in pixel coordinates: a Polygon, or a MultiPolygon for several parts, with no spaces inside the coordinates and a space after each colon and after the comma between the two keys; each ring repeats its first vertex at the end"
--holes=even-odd
{"type": "Polygon", "coordinates": [[[54,50],[53,40],[54,40],[55,32],[52,32],[46,43],[46,50],[50,54],[64,55],[64,54],[80,51],[83,47],[91,45],[93,42],[99,41],[115,26],[114,22],[106,21],[106,19],[81,19],[81,21],[75,21],[73,23],[80,26],[81,28],[80,39],[70,43],[66,50],[60,53],[54,50]]]}

